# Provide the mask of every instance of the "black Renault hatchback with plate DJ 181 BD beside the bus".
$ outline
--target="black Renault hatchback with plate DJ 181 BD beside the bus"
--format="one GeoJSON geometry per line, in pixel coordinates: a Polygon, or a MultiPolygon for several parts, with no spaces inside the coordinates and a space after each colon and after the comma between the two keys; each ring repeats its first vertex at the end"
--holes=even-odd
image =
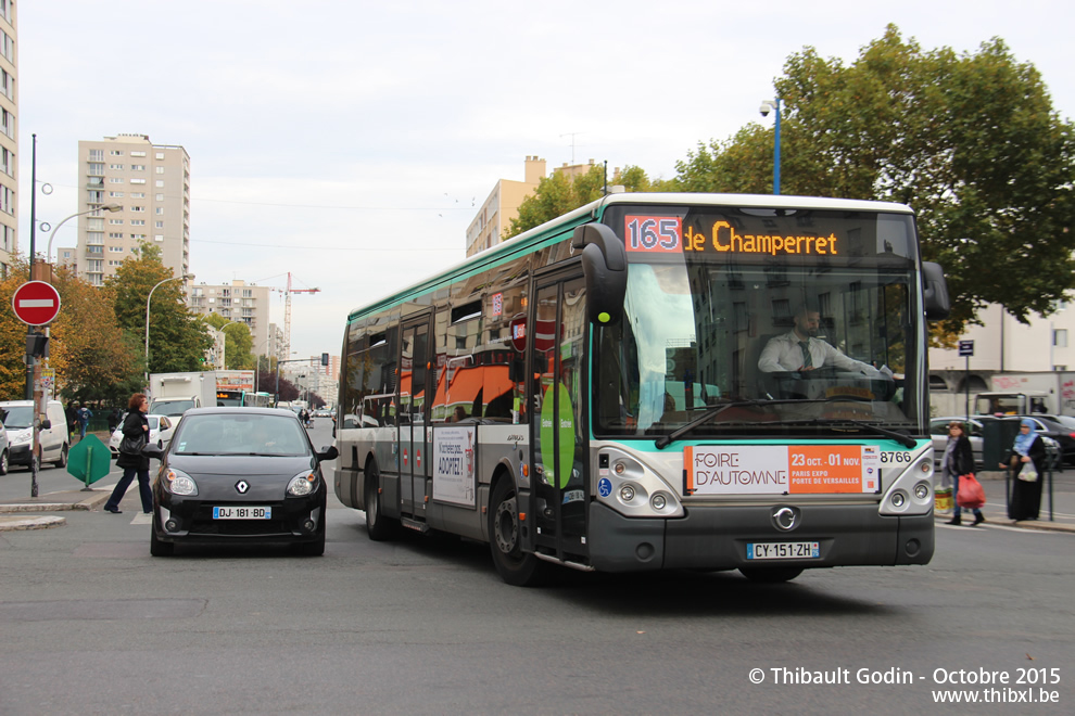
{"type": "Polygon", "coordinates": [[[316,451],[290,410],[195,408],[184,413],[172,445],[161,451],[153,483],[150,553],[177,544],[292,542],[304,554],[325,552],[327,486],[316,451]]]}

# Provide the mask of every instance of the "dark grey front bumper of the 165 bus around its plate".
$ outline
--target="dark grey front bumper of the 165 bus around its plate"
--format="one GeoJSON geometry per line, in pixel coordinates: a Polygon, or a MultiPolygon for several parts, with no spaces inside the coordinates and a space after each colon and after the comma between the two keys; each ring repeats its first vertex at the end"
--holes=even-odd
{"type": "Polygon", "coordinates": [[[882,516],[876,504],[789,504],[796,526],[782,530],[773,519],[781,507],[688,507],[681,519],[638,520],[591,502],[590,563],[604,572],[635,572],[927,564],[933,559],[932,512],[882,516]],[[818,542],[820,555],[747,559],[747,545],[758,542],[818,542]]]}

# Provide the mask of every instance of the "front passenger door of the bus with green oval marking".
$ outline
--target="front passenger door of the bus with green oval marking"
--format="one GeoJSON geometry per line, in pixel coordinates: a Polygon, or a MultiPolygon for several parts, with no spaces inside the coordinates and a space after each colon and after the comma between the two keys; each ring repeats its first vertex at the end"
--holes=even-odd
{"type": "Polygon", "coordinates": [[[533,367],[528,410],[533,417],[530,446],[535,477],[530,513],[536,545],[542,552],[584,563],[590,478],[583,432],[583,278],[539,284],[532,316],[527,341],[533,367]]]}

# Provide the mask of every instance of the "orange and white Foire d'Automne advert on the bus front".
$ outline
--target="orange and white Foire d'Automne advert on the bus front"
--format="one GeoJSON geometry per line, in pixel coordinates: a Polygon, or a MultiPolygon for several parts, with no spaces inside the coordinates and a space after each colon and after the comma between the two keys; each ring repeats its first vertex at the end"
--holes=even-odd
{"type": "Polygon", "coordinates": [[[694,446],[683,450],[688,495],[881,491],[874,445],[694,446]]]}

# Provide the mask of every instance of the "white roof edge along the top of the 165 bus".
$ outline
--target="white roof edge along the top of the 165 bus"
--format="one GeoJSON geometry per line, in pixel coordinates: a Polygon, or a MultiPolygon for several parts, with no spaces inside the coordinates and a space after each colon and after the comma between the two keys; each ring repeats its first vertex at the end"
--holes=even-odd
{"type": "Polygon", "coordinates": [[[835,209],[845,212],[886,212],[890,214],[909,214],[914,212],[906,204],[891,202],[874,202],[859,199],[825,199],[821,196],[793,196],[787,194],[707,194],[707,193],[656,193],[656,192],[619,192],[608,194],[580,206],[573,212],[546,221],[541,226],[524,231],[508,241],[470,256],[444,271],[412,284],[372,304],[355,308],[347,316],[353,321],[359,316],[376,312],[404,302],[415,295],[434,291],[451,284],[467,276],[485,270],[491,266],[503,264],[516,256],[524,255],[546,243],[561,241],[558,235],[566,229],[589,223],[600,218],[605,209],[616,204],[653,204],[673,206],[743,206],[749,208],[784,208],[784,209],[835,209]],[[555,238],[554,238],[555,234],[555,238]]]}

